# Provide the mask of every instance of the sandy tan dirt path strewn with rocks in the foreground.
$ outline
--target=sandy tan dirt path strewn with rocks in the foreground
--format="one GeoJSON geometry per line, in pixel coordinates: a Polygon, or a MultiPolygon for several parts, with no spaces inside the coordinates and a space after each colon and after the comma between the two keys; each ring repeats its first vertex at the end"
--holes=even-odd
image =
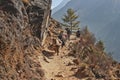
{"type": "Polygon", "coordinates": [[[71,68],[75,68],[75,65],[68,66],[69,63],[73,63],[73,57],[66,56],[67,51],[62,49],[60,55],[52,56],[52,59],[45,57],[47,61],[40,58],[42,68],[45,70],[47,80],[79,80],[72,76],[74,71],[71,68]]]}

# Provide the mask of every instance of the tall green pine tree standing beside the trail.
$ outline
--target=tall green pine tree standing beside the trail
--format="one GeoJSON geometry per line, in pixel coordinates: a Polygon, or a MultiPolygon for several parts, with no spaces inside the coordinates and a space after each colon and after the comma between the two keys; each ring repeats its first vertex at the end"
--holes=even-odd
{"type": "Polygon", "coordinates": [[[75,14],[75,11],[73,9],[68,9],[67,13],[63,16],[63,25],[65,27],[69,27],[71,32],[73,30],[73,27],[76,28],[79,26],[80,21],[77,21],[78,15],[75,14]]]}

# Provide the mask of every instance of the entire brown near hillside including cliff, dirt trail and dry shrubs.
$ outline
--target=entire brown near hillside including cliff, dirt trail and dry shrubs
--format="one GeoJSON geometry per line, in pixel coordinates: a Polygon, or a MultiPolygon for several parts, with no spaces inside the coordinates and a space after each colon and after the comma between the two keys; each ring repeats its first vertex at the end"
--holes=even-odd
{"type": "Polygon", "coordinates": [[[68,40],[50,6],[51,0],[0,1],[0,80],[119,80],[120,63],[104,44],[87,28],[68,40]]]}

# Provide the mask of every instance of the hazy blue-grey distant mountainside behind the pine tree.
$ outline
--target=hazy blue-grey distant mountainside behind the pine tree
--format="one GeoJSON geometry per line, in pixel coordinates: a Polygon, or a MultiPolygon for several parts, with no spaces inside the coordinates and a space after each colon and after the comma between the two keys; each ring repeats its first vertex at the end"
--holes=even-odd
{"type": "Polygon", "coordinates": [[[98,39],[102,39],[108,52],[120,61],[120,0],[71,0],[52,17],[61,21],[68,8],[73,8],[80,16],[81,27],[88,25],[98,39]]]}

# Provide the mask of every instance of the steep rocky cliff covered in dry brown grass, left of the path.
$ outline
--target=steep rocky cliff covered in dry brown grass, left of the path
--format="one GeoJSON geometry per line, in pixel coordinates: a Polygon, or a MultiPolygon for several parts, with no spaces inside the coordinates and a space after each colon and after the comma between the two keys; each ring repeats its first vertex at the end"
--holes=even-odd
{"type": "Polygon", "coordinates": [[[1,0],[0,80],[45,80],[38,55],[51,0],[1,0]]]}

